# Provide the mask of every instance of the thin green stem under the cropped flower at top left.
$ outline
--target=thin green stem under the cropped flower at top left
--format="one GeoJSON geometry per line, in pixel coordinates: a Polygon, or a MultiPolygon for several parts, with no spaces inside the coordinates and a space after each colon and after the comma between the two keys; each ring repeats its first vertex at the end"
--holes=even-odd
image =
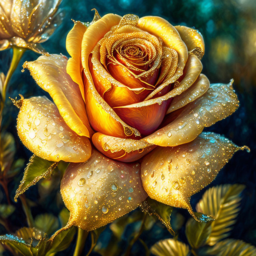
{"type": "MultiPolygon", "coordinates": [[[[0,120],[1,120],[1,117],[2,117],[2,113],[3,113],[3,108],[4,108],[5,99],[6,99],[6,92],[7,92],[8,84],[11,80],[13,72],[15,71],[15,69],[17,68],[17,66],[20,62],[20,59],[21,59],[22,55],[26,51],[25,48],[20,48],[20,47],[16,47],[16,46],[13,46],[12,50],[13,50],[12,62],[11,62],[11,65],[9,67],[9,70],[7,72],[7,75],[6,75],[6,78],[4,80],[4,84],[3,84],[2,101],[1,101],[1,105],[0,105],[0,120]]],[[[1,128],[1,123],[0,123],[0,128],[1,128]]]]}

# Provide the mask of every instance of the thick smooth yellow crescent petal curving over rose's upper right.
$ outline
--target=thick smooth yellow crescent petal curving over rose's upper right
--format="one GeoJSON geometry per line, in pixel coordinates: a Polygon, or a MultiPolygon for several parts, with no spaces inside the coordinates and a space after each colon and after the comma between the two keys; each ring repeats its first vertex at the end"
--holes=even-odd
{"type": "Polygon", "coordinates": [[[188,50],[175,27],[167,20],[157,16],[142,17],[137,26],[158,38],[160,37],[166,46],[178,53],[178,68],[175,73],[181,76],[188,58],[188,50]]]}

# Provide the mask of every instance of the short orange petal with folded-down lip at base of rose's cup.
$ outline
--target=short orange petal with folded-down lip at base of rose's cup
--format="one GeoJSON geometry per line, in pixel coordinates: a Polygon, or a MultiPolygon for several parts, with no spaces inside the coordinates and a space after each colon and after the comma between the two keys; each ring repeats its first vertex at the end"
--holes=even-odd
{"type": "Polygon", "coordinates": [[[123,139],[96,132],[92,136],[94,146],[104,155],[122,162],[133,162],[156,146],[143,140],[123,139]]]}

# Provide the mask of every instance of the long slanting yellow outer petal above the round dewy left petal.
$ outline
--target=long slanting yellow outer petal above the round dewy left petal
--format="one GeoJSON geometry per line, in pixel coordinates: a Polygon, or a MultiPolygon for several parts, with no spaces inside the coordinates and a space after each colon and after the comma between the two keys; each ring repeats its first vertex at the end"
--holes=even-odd
{"type": "Polygon", "coordinates": [[[67,59],[53,54],[25,62],[37,84],[47,91],[66,124],[80,136],[90,137],[92,129],[87,118],[80,90],[66,72],[67,59]]]}

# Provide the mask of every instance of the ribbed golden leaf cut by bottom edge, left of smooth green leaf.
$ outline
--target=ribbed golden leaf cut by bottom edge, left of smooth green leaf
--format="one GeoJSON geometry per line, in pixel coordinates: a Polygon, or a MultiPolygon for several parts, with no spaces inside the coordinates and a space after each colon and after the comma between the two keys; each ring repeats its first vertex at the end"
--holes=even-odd
{"type": "Polygon", "coordinates": [[[167,238],[155,243],[150,251],[157,256],[187,256],[189,247],[182,242],[167,238]]]}

